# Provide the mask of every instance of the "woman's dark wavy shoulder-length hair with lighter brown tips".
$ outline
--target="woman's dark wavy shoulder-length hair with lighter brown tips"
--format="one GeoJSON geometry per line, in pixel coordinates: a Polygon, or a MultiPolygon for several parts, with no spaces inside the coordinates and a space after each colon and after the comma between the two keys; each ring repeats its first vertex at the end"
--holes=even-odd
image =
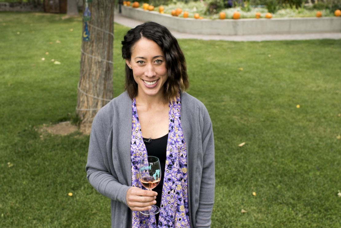
{"type": "MultiPolygon", "coordinates": [[[[181,51],[177,39],[169,30],[158,23],[146,22],[130,29],[124,36],[122,43],[123,59],[131,59],[131,50],[141,38],[146,38],[157,43],[166,58],[167,81],[164,84],[165,99],[171,101],[176,98],[179,91],[188,88],[186,59],[181,51]]],[[[137,95],[137,83],[133,71],[125,64],[125,90],[131,99],[137,95]]]]}

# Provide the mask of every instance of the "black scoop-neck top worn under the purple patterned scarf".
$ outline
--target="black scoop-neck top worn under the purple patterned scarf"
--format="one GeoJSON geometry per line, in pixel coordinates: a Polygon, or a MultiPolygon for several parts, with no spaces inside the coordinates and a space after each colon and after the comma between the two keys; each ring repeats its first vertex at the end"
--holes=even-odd
{"type": "MultiPolygon", "coordinates": [[[[161,205],[161,196],[162,196],[162,186],[163,186],[163,176],[165,173],[165,166],[166,166],[166,151],[167,151],[167,140],[168,134],[165,136],[158,138],[158,139],[146,139],[143,138],[143,141],[146,145],[148,156],[154,156],[159,158],[160,166],[161,166],[161,180],[160,183],[153,189],[158,193],[156,197],[156,204],[159,208],[161,205]]],[[[159,220],[159,214],[156,214],[156,221],[159,220]]]]}

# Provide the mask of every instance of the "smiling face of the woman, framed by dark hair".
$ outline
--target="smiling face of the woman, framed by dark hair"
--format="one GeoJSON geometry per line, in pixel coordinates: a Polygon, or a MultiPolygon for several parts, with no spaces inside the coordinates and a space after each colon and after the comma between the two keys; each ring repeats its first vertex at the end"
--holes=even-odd
{"type": "Polygon", "coordinates": [[[131,59],[125,62],[133,70],[137,96],[163,96],[163,85],[167,81],[166,58],[157,43],[141,38],[132,47],[131,59]]]}

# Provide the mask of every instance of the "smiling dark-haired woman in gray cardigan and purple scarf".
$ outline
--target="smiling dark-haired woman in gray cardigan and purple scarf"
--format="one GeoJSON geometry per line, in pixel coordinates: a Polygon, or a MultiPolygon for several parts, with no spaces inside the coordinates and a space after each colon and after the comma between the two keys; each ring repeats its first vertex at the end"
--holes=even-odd
{"type": "Polygon", "coordinates": [[[125,89],[95,116],[87,178],[111,199],[112,227],[210,227],[214,140],[205,106],[188,88],[186,61],[169,30],[148,22],[122,41],[125,89]],[[139,183],[138,161],[156,156],[161,180],[139,183]],[[139,211],[160,206],[156,216],[139,211]]]}

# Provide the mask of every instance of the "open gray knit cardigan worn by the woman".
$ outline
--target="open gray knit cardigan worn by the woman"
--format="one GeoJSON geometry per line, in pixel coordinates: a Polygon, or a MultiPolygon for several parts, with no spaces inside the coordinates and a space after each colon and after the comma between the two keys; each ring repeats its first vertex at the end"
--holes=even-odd
{"type": "MultiPolygon", "coordinates": [[[[131,186],[132,100],[127,92],[96,114],[90,133],[87,179],[111,199],[112,227],[132,227],[125,195],[131,186]]],[[[212,123],[202,102],[181,94],[181,125],[187,146],[188,199],[192,228],[210,227],[214,202],[212,123]]]]}

